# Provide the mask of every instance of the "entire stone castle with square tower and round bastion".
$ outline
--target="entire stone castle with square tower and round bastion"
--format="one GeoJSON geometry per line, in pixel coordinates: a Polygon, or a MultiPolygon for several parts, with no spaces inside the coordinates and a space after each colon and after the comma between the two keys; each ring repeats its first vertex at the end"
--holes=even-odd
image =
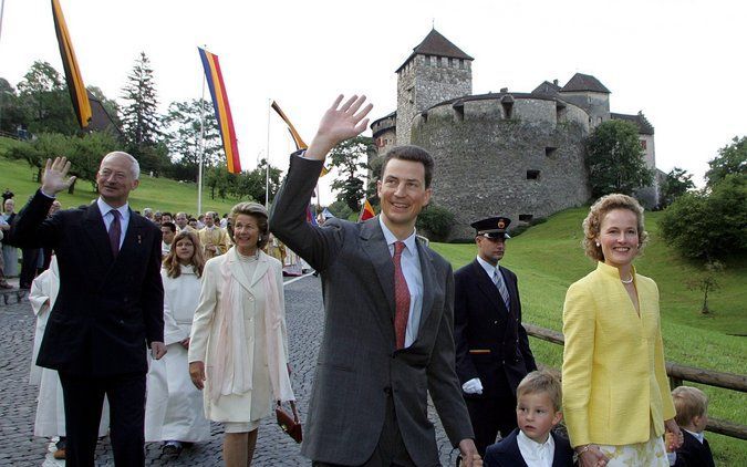
{"type": "MultiPolygon", "coordinates": [[[[397,73],[397,108],[371,124],[380,157],[415,144],[436,159],[432,201],[456,217],[452,238],[469,224],[508,216],[512,227],[590,200],[583,141],[608,120],[639,127],[645,162],[655,169],[654,128],[646,117],[610,112],[610,90],[574,74],[563,86],[544,81],[529,93],[473,94],[473,58],[433,29],[397,73]]],[[[656,177],[655,177],[656,178],[656,177]]],[[[636,193],[646,207],[658,185],[636,193]]]]}

